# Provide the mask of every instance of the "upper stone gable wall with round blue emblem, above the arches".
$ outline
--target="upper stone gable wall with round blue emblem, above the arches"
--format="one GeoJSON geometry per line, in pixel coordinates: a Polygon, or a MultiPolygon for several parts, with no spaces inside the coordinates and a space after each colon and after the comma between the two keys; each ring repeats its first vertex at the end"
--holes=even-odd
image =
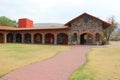
{"type": "Polygon", "coordinates": [[[93,17],[83,16],[71,23],[71,27],[73,31],[100,32],[102,30],[102,22],[93,17]]]}

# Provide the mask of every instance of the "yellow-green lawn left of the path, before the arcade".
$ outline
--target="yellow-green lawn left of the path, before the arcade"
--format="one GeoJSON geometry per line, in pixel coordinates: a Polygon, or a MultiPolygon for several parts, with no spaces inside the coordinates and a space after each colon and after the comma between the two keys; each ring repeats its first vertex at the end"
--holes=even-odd
{"type": "Polygon", "coordinates": [[[20,67],[46,60],[70,46],[0,44],[0,77],[20,67]]]}

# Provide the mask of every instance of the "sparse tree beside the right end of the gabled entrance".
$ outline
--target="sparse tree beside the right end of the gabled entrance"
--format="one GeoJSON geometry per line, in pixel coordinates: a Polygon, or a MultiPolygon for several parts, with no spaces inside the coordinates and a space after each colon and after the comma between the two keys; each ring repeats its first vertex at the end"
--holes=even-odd
{"type": "Polygon", "coordinates": [[[104,37],[107,40],[107,42],[109,42],[110,36],[111,36],[112,32],[117,28],[117,22],[115,22],[115,18],[114,17],[110,17],[108,19],[108,22],[111,25],[108,28],[103,30],[103,34],[104,34],[104,37]]]}

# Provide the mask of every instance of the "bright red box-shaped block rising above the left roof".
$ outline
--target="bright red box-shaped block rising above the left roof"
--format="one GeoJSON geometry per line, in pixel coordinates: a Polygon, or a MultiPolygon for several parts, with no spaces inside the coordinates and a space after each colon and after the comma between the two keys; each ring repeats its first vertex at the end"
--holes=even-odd
{"type": "Polygon", "coordinates": [[[33,21],[27,18],[19,19],[18,28],[33,28],[33,21]]]}

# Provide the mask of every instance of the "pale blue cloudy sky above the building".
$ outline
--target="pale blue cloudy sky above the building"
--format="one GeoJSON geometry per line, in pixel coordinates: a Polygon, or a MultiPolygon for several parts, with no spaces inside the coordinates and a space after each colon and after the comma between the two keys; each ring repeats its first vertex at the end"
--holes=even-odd
{"type": "Polygon", "coordinates": [[[0,0],[0,16],[29,18],[34,23],[66,23],[87,12],[120,21],[120,0],[0,0]]]}

